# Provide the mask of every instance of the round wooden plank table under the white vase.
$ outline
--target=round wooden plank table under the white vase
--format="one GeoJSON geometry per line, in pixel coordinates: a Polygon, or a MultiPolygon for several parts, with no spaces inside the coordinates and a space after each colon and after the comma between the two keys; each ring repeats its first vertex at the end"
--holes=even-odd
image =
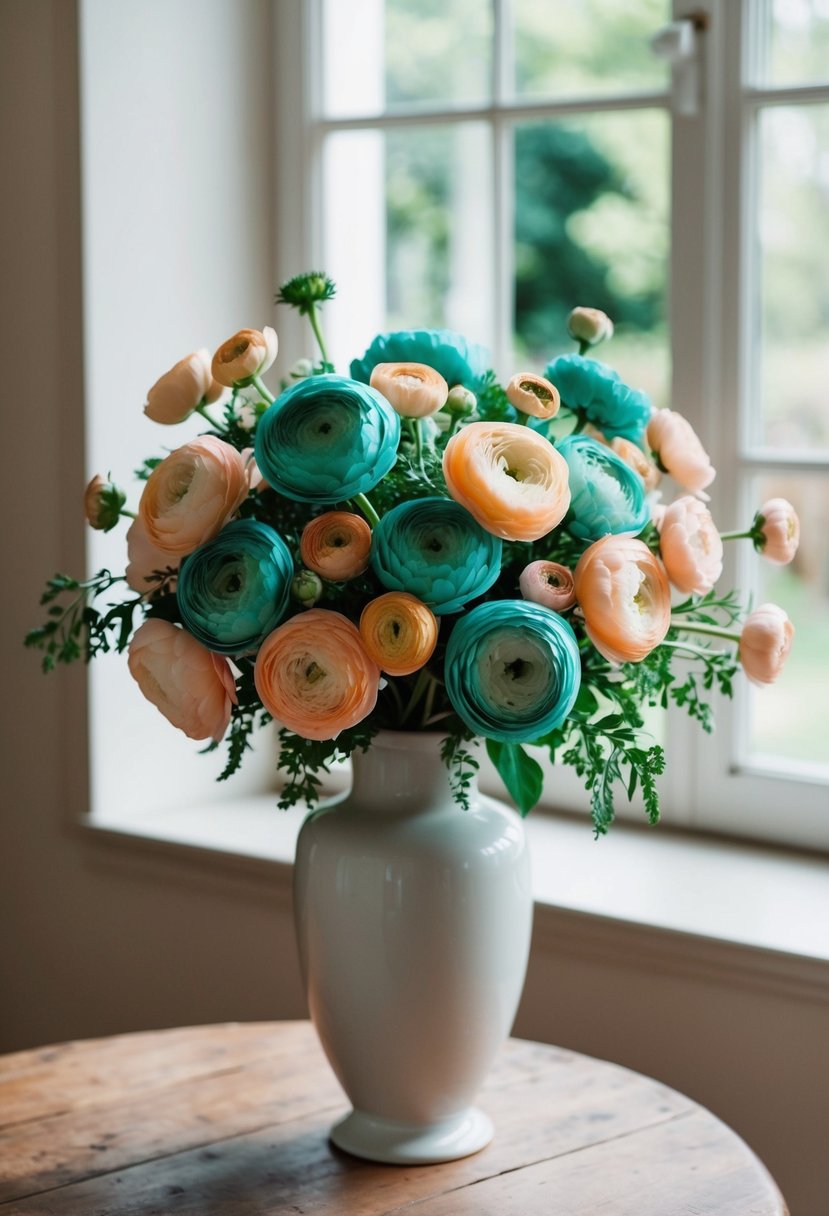
{"type": "Polygon", "coordinates": [[[0,1057],[0,1216],[786,1212],[728,1127],[614,1064],[511,1040],[480,1104],[481,1153],[379,1166],[328,1143],[346,1103],[309,1023],[19,1052],[0,1057]]]}

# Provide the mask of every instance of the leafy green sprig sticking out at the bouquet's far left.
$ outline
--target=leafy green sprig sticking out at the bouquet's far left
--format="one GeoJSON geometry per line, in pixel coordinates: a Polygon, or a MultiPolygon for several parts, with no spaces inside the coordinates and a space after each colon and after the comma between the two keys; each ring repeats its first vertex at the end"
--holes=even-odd
{"type": "Polygon", "coordinates": [[[49,579],[40,597],[41,604],[49,604],[47,619],[24,638],[26,646],[44,652],[44,671],[52,671],[57,663],[74,663],[77,659],[89,663],[96,654],[126,648],[132,635],[132,615],[141,597],[107,604],[103,612],[92,607],[92,601],[124,581],[124,575],[113,575],[109,570],[98,570],[85,581],[68,574],[49,579]]]}

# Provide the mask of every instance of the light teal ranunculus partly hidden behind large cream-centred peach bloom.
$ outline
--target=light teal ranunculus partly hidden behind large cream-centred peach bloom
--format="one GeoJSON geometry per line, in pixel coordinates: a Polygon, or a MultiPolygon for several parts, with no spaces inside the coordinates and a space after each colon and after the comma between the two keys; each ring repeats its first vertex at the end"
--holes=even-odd
{"type": "Polygon", "coordinates": [[[568,531],[590,541],[608,533],[641,533],[650,511],[639,474],[588,435],[568,435],[556,446],[570,469],[568,531]]]}

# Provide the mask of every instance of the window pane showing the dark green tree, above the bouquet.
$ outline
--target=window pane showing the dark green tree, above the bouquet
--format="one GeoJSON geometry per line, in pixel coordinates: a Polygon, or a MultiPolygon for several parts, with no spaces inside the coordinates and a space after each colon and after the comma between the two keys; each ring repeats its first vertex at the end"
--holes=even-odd
{"type": "Polygon", "coordinates": [[[669,404],[669,185],[662,111],[517,128],[514,366],[575,350],[568,313],[599,308],[616,333],[598,358],[669,404]]]}

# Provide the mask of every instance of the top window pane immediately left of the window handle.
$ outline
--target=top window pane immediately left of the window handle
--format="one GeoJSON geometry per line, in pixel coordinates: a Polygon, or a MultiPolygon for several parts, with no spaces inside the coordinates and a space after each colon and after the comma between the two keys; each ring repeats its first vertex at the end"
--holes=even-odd
{"type": "Polygon", "coordinates": [[[650,39],[671,19],[669,0],[513,0],[512,10],[520,97],[667,89],[650,39]]]}

